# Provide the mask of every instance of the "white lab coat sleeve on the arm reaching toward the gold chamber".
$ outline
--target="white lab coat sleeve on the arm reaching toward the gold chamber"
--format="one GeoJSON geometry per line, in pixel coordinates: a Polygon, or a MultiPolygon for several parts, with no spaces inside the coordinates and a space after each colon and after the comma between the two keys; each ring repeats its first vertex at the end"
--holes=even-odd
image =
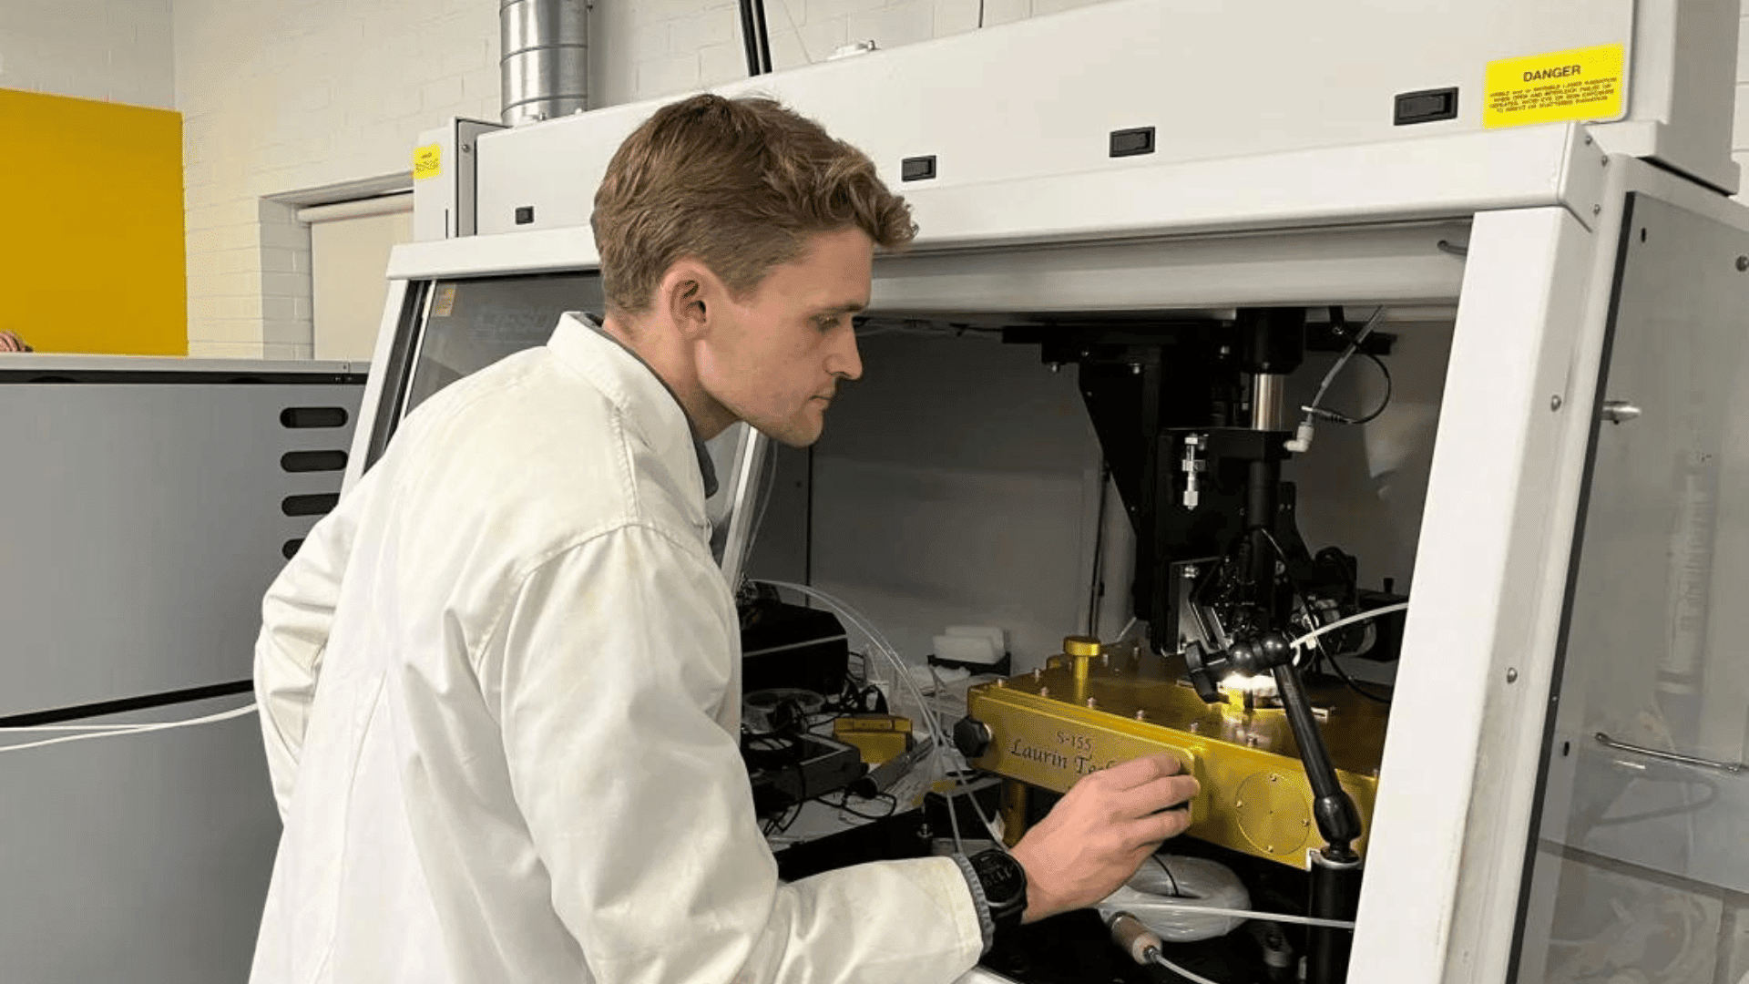
{"type": "Polygon", "coordinates": [[[733,604],[700,546],[624,527],[542,564],[484,646],[518,807],[602,984],[950,982],[983,949],[951,858],[780,884],[715,720],[733,604]]]}

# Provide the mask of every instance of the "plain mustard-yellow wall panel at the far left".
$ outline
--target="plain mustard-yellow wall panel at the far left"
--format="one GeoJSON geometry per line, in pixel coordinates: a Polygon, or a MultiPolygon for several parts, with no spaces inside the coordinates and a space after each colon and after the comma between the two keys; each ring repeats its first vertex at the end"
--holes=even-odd
{"type": "Polygon", "coordinates": [[[182,114],[0,89],[0,331],[187,355],[182,114]]]}

